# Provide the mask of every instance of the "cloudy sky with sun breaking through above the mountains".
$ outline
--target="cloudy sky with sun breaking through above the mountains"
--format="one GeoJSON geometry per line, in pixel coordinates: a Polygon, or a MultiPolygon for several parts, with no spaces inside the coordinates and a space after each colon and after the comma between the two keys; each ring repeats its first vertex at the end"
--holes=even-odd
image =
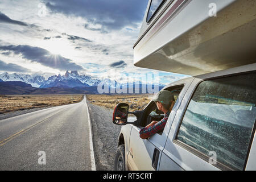
{"type": "Polygon", "coordinates": [[[148,0],[1,0],[0,73],[48,78],[77,70],[92,77],[158,73],[160,83],[185,77],[133,65],[148,0]]]}

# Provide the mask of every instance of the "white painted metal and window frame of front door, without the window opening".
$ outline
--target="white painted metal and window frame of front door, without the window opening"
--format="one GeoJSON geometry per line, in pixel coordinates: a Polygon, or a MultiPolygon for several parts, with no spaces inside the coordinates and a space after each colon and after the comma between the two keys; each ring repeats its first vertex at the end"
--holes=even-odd
{"type": "MultiPolygon", "coordinates": [[[[164,145],[166,144],[166,139],[172,125],[172,120],[174,119],[176,110],[177,108],[179,108],[181,100],[184,94],[187,92],[187,89],[189,88],[189,85],[191,84],[193,79],[193,77],[190,77],[183,81],[177,81],[175,82],[175,84],[168,85],[168,87],[164,88],[167,89],[172,87],[175,88],[176,86],[183,86],[183,89],[179,93],[179,97],[177,97],[176,103],[170,113],[167,124],[164,127],[164,131],[162,134],[155,134],[149,139],[143,140],[139,137],[139,131],[142,129],[142,127],[133,126],[130,135],[129,154],[127,155],[127,165],[130,169],[154,170],[151,164],[155,149],[159,150],[160,152],[158,163],[160,162],[162,151],[164,149],[164,145]]],[[[145,108],[145,110],[147,110],[147,107],[145,108]]]]}

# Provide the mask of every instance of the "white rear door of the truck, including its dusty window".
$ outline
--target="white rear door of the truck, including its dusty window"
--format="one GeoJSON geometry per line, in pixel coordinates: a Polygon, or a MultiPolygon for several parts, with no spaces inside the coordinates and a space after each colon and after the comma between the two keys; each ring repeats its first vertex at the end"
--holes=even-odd
{"type": "Polygon", "coordinates": [[[159,169],[245,170],[255,133],[255,80],[255,72],[195,78],[177,111],[159,169]]]}

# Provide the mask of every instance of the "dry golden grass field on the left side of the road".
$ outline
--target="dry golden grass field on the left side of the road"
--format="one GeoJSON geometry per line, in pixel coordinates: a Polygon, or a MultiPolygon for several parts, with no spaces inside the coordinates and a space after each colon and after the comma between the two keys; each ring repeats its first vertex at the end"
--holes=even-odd
{"type": "Polygon", "coordinates": [[[80,102],[84,95],[0,95],[0,114],[80,102]]]}

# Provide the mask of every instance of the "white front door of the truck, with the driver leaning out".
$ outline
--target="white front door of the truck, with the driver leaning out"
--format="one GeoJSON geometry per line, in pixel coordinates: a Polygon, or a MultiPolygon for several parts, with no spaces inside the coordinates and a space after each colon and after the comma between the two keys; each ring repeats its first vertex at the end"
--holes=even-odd
{"type": "Polygon", "coordinates": [[[193,78],[187,78],[187,80],[183,80],[180,84],[164,88],[164,90],[169,90],[175,94],[176,102],[164,127],[164,131],[155,134],[149,139],[141,139],[139,137],[139,131],[151,121],[160,121],[164,117],[164,114],[156,111],[157,107],[153,101],[144,109],[145,113],[143,114],[140,126],[133,126],[131,129],[129,154],[127,156],[127,166],[130,170],[148,171],[158,169],[159,159],[166,143],[172,120],[192,80],[193,78]]]}

